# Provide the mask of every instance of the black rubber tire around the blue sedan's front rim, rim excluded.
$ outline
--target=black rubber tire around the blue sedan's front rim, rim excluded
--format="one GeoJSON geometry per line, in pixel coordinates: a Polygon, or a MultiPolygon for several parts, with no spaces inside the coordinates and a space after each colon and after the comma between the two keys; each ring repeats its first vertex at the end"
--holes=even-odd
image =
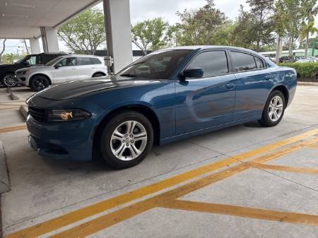
{"type": "Polygon", "coordinates": [[[112,117],[112,119],[110,119],[110,121],[104,127],[102,131],[102,136],[100,138],[100,152],[102,154],[102,157],[108,165],[114,167],[115,169],[125,169],[139,164],[142,160],[145,159],[148,153],[150,153],[152,145],[153,127],[151,125],[151,122],[145,116],[143,116],[143,114],[135,111],[122,112],[112,117]],[[116,129],[117,126],[119,126],[119,124],[122,124],[124,121],[130,120],[139,121],[139,123],[141,123],[145,127],[147,131],[147,145],[146,148],[143,150],[143,153],[141,153],[139,157],[136,157],[136,159],[134,160],[123,161],[119,160],[117,157],[113,155],[112,150],[110,148],[110,138],[112,136],[114,129],[116,129]]]}

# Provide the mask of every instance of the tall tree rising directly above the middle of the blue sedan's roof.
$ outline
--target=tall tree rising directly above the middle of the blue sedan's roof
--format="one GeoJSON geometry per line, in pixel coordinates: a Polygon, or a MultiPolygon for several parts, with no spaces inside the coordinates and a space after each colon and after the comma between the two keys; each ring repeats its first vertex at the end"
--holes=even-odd
{"type": "Polygon", "coordinates": [[[197,10],[177,12],[177,16],[181,18],[178,24],[181,45],[216,44],[218,28],[228,23],[228,18],[216,9],[213,0],[206,0],[206,5],[197,10]]]}

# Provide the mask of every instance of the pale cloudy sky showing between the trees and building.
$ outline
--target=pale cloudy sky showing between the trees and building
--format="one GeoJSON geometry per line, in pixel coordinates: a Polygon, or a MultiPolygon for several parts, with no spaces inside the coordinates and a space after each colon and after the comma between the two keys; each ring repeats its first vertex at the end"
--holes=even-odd
{"type": "MultiPolygon", "coordinates": [[[[238,16],[240,4],[248,9],[246,0],[215,0],[214,2],[216,8],[219,8],[220,11],[225,13],[225,16],[232,20],[238,16]]],[[[204,4],[206,4],[205,0],[130,0],[131,23],[161,17],[170,24],[175,24],[179,22],[179,17],[176,15],[177,11],[183,11],[184,8],[199,8],[204,4]]],[[[102,4],[98,4],[96,7],[102,9],[102,4]]],[[[318,26],[318,16],[316,17],[316,25],[318,26]]],[[[8,40],[7,45],[6,53],[16,52],[17,49],[21,52],[24,49],[21,40],[8,40]]],[[[59,42],[59,47],[61,51],[69,51],[63,42],[59,42]]],[[[134,47],[134,49],[136,48],[134,47]]]]}

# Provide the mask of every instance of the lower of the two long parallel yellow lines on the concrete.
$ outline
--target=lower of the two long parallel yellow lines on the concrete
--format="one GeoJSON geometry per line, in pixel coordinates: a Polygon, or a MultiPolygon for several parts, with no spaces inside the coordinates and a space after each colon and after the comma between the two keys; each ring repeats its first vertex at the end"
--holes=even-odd
{"type": "MultiPolygon", "coordinates": [[[[317,138],[318,139],[318,138],[317,138]]],[[[266,162],[269,160],[273,160],[276,157],[280,157],[287,153],[290,153],[294,150],[298,150],[300,148],[305,147],[308,144],[307,141],[302,143],[298,143],[298,145],[291,145],[288,148],[284,148],[283,150],[273,152],[269,155],[263,155],[261,157],[257,157],[252,160],[252,162],[266,162]]],[[[242,172],[246,169],[251,168],[252,165],[249,163],[241,163],[240,165],[236,165],[234,167],[230,167],[220,172],[216,172],[215,174],[208,175],[202,179],[198,179],[194,182],[190,182],[189,184],[185,184],[183,186],[179,186],[177,189],[172,189],[170,191],[166,191],[163,194],[159,194],[152,198],[148,198],[139,203],[134,203],[131,206],[127,206],[125,208],[114,211],[113,213],[109,213],[107,215],[102,215],[99,218],[95,218],[88,222],[85,222],[81,225],[73,227],[69,230],[65,230],[64,232],[60,232],[58,234],[52,235],[50,238],[79,238],[79,237],[87,237],[90,234],[95,234],[100,230],[104,230],[111,225],[117,224],[118,222],[122,222],[123,220],[129,219],[143,213],[146,210],[150,210],[152,208],[160,207],[165,203],[169,203],[173,199],[179,198],[186,194],[191,193],[192,191],[196,191],[198,189],[203,188],[209,184],[214,182],[218,182],[222,179],[235,175],[239,172],[242,172]]],[[[22,237],[22,236],[21,236],[22,237]]]]}

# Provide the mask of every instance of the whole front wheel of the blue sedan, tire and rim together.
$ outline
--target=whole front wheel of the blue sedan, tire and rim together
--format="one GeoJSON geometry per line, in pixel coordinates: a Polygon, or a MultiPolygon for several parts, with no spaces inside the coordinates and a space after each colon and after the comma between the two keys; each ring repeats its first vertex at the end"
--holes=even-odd
{"type": "Polygon", "coordinates": [[[153,127],[139,112],[125,111],[117,114],[102,129],[100,153],[107,164],[115,169],[139,164],[151,151],[152,146],[153,127]],[[134,126],[130,126],[133,128],[131,133],[127,130],[133,123],[134,126]]]}

